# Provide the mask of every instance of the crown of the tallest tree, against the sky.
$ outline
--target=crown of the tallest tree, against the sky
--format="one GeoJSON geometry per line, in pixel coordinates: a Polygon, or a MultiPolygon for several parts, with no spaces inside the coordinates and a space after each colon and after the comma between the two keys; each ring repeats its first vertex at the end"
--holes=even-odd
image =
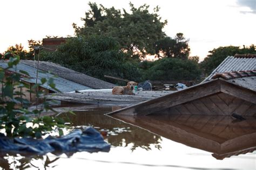
{"type": "MultiPolygon", "coordinates": [[[[84,26],[73,24],[77,35],[91,36],[93,34],[115,38],[124,51],[131,55],[144,57],[154,54],[154,42],[164,38],[162,31],[167,21],[161,22],[158,6],[153,13],[149,12],[149,5],[135,8],[130,3],[130,11],[126,12],[112,8],[100,7],[96,3],[89,3],[90,10],[85,13],[84,26]]],[[[129,55],[130,56],[130,55],[129,55]]]]}

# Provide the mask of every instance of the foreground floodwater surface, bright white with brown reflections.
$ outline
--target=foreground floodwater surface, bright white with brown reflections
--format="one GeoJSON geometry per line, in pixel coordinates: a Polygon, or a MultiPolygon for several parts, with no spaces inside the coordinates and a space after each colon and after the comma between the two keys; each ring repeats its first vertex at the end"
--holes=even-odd
{"type": "Polygon", "coordinates": [[[78,111],[74,126],[104,130],[110,152],[22,157],[1,153],[2,169],[256,169],[256,119],[113,116],[112,108],[78,111]],[[122,120],[122,121],[120,121],[122,120]]]}

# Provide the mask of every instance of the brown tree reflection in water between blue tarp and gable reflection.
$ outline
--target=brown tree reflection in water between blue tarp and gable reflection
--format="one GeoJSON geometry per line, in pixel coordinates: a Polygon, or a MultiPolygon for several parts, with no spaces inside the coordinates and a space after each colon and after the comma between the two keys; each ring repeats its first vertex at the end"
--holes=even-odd
{"type": "Polygon", "coordinates": [[[95,108],[87,111],[75,112],[76,115],[66,115],[74,126],[90,125],[98,130],[105,130],[108,135],[105,140],[112,146],[128,146],[131,144],[131,150],[144,148],[151,150],[151,147],[161,148],[161,137],[143,130],[133,125],[127,125],[124,122],[106,116],[112,108],[95,108]]]}

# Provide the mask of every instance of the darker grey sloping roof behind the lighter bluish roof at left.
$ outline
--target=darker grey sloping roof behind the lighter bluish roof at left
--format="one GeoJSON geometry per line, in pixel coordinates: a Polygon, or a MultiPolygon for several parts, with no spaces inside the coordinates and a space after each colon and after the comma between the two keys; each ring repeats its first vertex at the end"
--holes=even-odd
{"type": "MultiPolygon", "coordinates": [[[[20,62],[29,66],[34,65],[33,60],[21,60],[20,62]]],[[[44,70],[45,72],[50,71],[52,74],[56,74],[63,79],[83,84],[84,86],[90,87],[92,89],[112,89],[114,86],[116,86],[112,83],[96,79],[95,77],[91,77],[83,73],[76,72],[75,70],[62,67],[53,62],[39,61],[39,69],[44,70]]]]}

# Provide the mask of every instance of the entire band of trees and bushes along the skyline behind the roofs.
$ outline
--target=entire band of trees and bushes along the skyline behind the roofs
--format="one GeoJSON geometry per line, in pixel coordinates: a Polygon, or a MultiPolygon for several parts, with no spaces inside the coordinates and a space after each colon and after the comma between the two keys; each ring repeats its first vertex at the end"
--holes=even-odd
{"type": "MultiPolygon", "coordinates": [[[[89,3],[90,9],[82,18],[84,25],[73,24],[76,36],[59,46],[56,52],[41,51],[41,59],[53,61],[78,72],[106,79],[104,75],[116,76],[137,82],[145,80],[194,80],[200,81],[217,67],[228,55],[256,54],[250,47],[218,47],[201,63],[199,56],[189,56],[189,40],[183,33],[167,37],[163,32],[167,20],[163,20],[158,6],[153,12],[149,5],[130,10],[105,8],[89,3]],[[143,61],[154,55],[156,61],[143,61]],[[203,75],[203,76],[202,76],[203,75]]],[[[40,41],[29,40],[30,51],[22,45],[9,47],[4,54],[19,54],[21,59],[33,59],[33,46],[40,41]]],[[[11,55],[0,54],[8,59],[11,55]]],[[[116,81],[112,81],[117,83],[116,81]]]]}

